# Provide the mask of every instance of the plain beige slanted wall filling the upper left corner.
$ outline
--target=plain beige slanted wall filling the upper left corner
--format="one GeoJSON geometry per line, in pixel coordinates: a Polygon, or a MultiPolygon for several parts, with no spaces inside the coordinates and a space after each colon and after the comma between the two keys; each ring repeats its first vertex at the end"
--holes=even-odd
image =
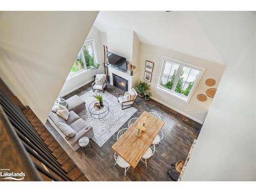
{"type": "Polygon", "coordinates": [[[46,122],[97,14],[0,13],[0,76],[41,122],[46,122]]]}

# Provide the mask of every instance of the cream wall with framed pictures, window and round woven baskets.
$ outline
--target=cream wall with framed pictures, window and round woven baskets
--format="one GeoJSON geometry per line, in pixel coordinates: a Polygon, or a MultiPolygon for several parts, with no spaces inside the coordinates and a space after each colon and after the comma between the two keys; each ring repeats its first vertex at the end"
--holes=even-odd
{"type": "Polygon", "coordinates": [[[151,82],[147,82],[151,84],[151,92],[153,94],[152,98],[188,116],[189,118],[202,123],[209,110],[212,98],[207,97],[207,100],[205,102],[201,102],[197,99],[197,95],[200,93],[205,94],[206,90],[209,89],[209,87],[205,85],[205,80],[208,78],[214,78],[216,80],[216,85],[213,88],[218,87],[225,66],[215,62],[207,61],[204,59],[196,58],[193,56],[177,53],[175,51],[166,50],[163,48],[143,43],[140,43],[139,50],[140,80],[143,80],[144,78],[145,60],[150,60],[155,63],[153,68],[152,80],[151,82]],[[189,103],[186,103],[185,101],[180,100],[175,96],[169,95],[165,92],[156,89],[162,66],[162,56],[167,56],[170,58],[175,58],[181,61],[189,62],[196,66],[203,67],[206,69],[189,103]]]}

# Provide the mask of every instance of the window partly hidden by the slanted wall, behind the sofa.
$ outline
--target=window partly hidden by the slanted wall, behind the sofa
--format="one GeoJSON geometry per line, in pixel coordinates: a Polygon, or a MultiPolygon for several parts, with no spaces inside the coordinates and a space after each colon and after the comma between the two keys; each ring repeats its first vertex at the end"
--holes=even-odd
{"type": "Polygon", "coordinates": [[[90,69],[96,62],[94,39],[86,40],[76,57],[68,78],[90,69]]]}

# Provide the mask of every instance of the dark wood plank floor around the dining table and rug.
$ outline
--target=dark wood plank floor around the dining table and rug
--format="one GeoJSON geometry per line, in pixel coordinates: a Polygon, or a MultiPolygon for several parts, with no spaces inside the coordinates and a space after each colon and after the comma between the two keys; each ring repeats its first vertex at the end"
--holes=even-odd
{"type": "MultiPolygon", "coordinates": [[[[91,90],[90,85],[91,83],[64,98],[67,99],[73,95],[81,96],[91,90]]],[[[108,85],[106,91],[114,96],[123,93],[111,85],[108,85]]],[[[124,177],[124,169],[114,165],[114,151],[111,148],[117,140],[116,135],[119,130],[102,147],[91,140],[93,148],[89,148],[85,155],[80,150],[74,152],[49,122],[46,123],[46,127],[90,181],[171,181],[167,175],[167,169],[177,160],[186,160],[202,125],[152,99],[146,101],[139,97],[134,107],[138,111],[131,118],[139,117],[144,111],[158,113],[165,122],[162,129],[164,137],[161,143],[156,145],[154,156],[148,159],[147,167],[140,162],[135,169],[129,168],[126,177],[124,177]]],[[[128,121],[120,129],[127,127],[128,121]]]]}

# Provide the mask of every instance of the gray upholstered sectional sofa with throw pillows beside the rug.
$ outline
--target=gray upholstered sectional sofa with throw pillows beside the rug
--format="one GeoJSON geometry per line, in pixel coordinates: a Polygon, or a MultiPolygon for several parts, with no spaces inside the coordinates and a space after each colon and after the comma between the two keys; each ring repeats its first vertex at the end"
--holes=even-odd
{"type": "Polygon", "coordinates": [[[51,111],[48,120],[61,137],[63,137],[73,150],[76,151],[79,148],[78,140],[81,137],[86,136],[90,139],[94,136],[93,127],[76,114],[86,109],[86,103],[80,97],[75,95],[66,101],[68,103],[67,109],[69,110],[69,118],[65,120],[51,111]],[[59,124],[61,124],[60,122],[68,124],[76,134],[73,137],[66,136],[58,127],[59,124]]]}

